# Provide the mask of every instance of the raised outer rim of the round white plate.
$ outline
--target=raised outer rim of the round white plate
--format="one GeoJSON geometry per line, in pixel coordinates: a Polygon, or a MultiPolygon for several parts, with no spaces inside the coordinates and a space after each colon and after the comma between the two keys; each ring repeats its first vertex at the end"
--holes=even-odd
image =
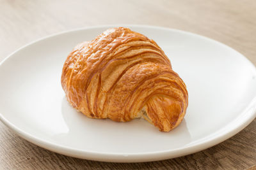
{"type": "MultiPolygon", "coordinates": [[[[6,60],[10,59],[13,57],[13,55],[20,50],[33,45],[35,43],[38,43],[40,41],[44,41],[45,39],[49,38],[54,38],[54,36],[61,36],[63,34],[67,34],[70,32],[77,32],[77,31],[85,31],[89,29],[99,29],[99,28],[108,28],[108,27],[118,27],[118,26],[123,26],[123,27],[140,27],[143,29],[162,29],[165,31],[172,31],[172,32],[181,32],[183,34],[189,34],[192,36],[196,36],[198,38],[205,39],[207,41],[212,41],[214,43],[217,43],[220,46],[224,46],[225,48],[228,48],[228,50],[232,50],[236,53],[239,54],[240,57],[243,58],[247,64],[249,64],[252,68],[253,71],[256,73],[256,67],[250,60],[248,60],[243,54],[240,52],[237,52],[237,50],[234,50],[234,48],[231,48],[228,45],[225,45],[221,43],[220,41],[216,41],[211,38],[207,38],[205,36],[202,36],[200,34],[195,34],[193,32],[188,32],[188,31],[183,31],[180,29],[172,29],[168,27],[159,27],[159,26],[154,26],[154,25],[134,25],[134,24],[113,24],[113,25],[95,25],[92,27],[81,27],[77,29],[70,29],[67,31],[62,31],[62,32],[57,32],[55,34],[50,34],[49,36],[44,36],[43,38],[36,39],[35,41],[31,41],[30,43],[27,43],[24,46],[21,46],[14,52],[10,53],[8,57],[3,59],[0,62],[0,67],[6,62],[6,60]]],[[[164,160],[164,159],[172,159],[175,157],[180,157],[184,155],[188,155],[191,153],[199,152],[201,150],[204,150],[206,148],[210,148],[211,146],[218,145],[222,141],[225,141],[228,138],[231,138],[238,132],[242,131],[244,127],[246,127],[248,124],[250,124],[256,117],[256,96],[252,99],[251,103],[247,105],[247,108],[244,109],[243,113],[239,114],[240,115],[246,115],[245,118],[243,118],[243,121],[240,121],[240,124],[233,126],[231,129],[227,129],[227,126],[232,124],[237,118],[232,120],[232,122],[228,123],[221,129],[224,131],[221,132],[220,135],[211,137],[209,139],[200,139],[200,142],[196,142],[193,145],[177,148],[175,150],[164,150],[164,151],[157,151],[157,152],[141,152],[141,153],[111,153],[111,152],[93,152],[93,151],[88,151],[88,150],[79,150],[76,148],[72,147],[67,147],[63,145],[58,145],[56,143],[52,143],[50,141],[44,140],[37,138],[28,132],[22,131],[19,129],[19,127],[16,127],[12,122],[4,118],[3,114],[0,113],[0,120],[3,122],[4,125],[6,125],[8,128],[12,129],[16,134],[18,134],[20,137],[26,139],[27,141],[40,146],[42,148],[45,148],[47,150],[51,150],[52,152],[56,153],[61,153],[63,155],[68,155],[71,157],[77,157],[80,159],[88,159],[88,160],[98,160],[98,161],[104,161],[104,162],[148,162],[148,161],[154,161],[154,160],[164,160]]],[[[219,132],[221,129],[219,129],[216,132],[219,132]]],[[[216,134],[214,132],[213,134],[216,134]]]]}

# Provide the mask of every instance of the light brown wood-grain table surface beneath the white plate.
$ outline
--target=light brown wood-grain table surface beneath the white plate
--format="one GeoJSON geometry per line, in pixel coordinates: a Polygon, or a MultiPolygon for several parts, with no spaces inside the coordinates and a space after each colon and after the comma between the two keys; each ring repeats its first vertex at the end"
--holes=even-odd
{"type": "MultiPolygon", "coordinates": [[[[202,34],[256,64],[256,1],[0,0],[0,60],[44,36],[92,25],[159,25],[202,34]]],[[[256,165],[256,120],[236,136],[177,159],[134,164],[94,162],[53,153],[0,122],[0,169],[247,169],[256,165]]]]}

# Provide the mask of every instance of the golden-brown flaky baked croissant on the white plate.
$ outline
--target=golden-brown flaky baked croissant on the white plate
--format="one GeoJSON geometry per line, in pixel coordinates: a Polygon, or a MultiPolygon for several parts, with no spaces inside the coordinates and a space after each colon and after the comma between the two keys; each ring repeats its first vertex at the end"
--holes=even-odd
{"type": "Polygon", "coordinates": [[[152,39],[125,27],[77,45],[63,66],[69,103],[90,118],[145,118],[168,132],[188,107],[185,83],[152,39]]]}

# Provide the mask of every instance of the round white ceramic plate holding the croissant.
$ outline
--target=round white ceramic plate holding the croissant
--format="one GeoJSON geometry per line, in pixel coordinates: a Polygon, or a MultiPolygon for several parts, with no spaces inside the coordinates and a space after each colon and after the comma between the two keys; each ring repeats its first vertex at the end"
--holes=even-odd
{"type": "Polygon", "coordinates": [[[108,162],[170,159],[209,148],[250,124],[256,110],[256,69],[241,53],[189,32],[125,25],[154,39],[186,83],[182,123],[159,132],[143,119],[95,120],[68,104],[61,88],[72,48],[108,25],[63,32],[20,48],[0,66],[0,119],[31,143],[72,157],[108,162]]]}

